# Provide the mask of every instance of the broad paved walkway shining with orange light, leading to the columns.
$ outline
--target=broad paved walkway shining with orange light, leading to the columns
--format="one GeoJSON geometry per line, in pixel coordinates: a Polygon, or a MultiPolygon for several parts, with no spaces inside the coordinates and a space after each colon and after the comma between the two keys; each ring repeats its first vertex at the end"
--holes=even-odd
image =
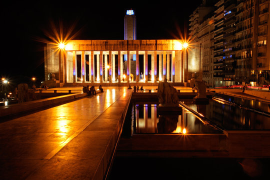
{"type": "Polygon", "coordinates": [[[102,179],[132,90],[0,121],[0,179],[102,179]]]}

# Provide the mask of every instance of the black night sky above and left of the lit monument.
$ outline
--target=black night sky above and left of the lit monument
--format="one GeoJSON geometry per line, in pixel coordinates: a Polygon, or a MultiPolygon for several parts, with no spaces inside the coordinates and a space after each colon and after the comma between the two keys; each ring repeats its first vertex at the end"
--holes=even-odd
{"type": "Polygon", "coordinates": [[[73,27],[74,39],[123,39],[125,11],[132,8],[137,39],[180,38],[177,27],[188,29],[188,16],[201,0],[124,1],[9,1],[1,8],[2,49],[0,76],[9,79],[44,78],[45,32],[53,24],[63,32],[73,27]],[[174,35],[173,35],[174,34],[174,35]]]}

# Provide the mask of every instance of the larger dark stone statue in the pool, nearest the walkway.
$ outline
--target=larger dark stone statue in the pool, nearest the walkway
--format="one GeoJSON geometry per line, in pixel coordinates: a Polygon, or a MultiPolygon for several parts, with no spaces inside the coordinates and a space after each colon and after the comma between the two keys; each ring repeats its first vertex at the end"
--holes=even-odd
{"type": "Polygon", "coordinates": [[[157,94],[161,106],[178,106],[177,90],[167,82],[166,78],[164,82],[159,81],[157,94]]]}

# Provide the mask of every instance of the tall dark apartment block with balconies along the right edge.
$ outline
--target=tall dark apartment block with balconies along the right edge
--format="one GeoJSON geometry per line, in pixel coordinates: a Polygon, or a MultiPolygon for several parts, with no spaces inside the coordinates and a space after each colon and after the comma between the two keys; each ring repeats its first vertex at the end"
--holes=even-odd
{"type": "MultiPolygon", "coordinates": [[[[212,78],[215,81],[212,86],[269,84],[269,0],[219,0],[214,7],[214,36],[210,46],[213,62],[202,62],[205,71],[203,79],[210,80],[206,67],[213,66],[212,78]]],[[[204,16],[207,15],[212,14],[208,12],[204,16]]],[[[204,21],[195,21],[192,26],[203,29],[204,24],[204,21]]],[[[195,38],[197,42],[199,39],[201,41],[203,37],[195,38]]],[[[201,54],[207,54],[207,51],[210,50],[201,48],[201,54]]]]}

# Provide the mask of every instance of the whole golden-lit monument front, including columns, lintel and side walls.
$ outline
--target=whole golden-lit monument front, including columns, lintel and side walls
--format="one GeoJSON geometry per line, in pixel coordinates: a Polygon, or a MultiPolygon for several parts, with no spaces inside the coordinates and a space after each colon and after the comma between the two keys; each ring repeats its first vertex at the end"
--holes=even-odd
{"type": "Polygon", "coordinates": [[[64,48],[47,43],[45,81],[57,86],[157,85],[167,78],[183,85],[199,65],[197,45],[182,44],[176,39],[69,40],[64,48]]]}

